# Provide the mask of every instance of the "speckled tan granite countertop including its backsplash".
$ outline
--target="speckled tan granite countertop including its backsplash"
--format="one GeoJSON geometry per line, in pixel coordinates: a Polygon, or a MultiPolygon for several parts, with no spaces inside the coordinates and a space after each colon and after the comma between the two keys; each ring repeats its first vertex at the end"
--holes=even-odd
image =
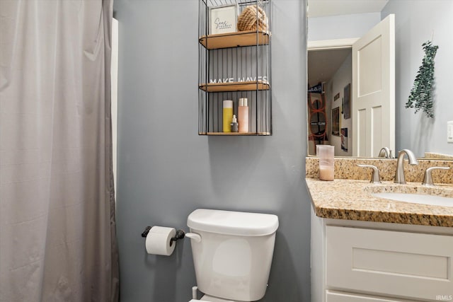
{"type": "Polygon", "coordinates": [[[423,226],[453,227],[452,207],[398,202],[373,197],[372,192],[407,192],[453,197],[453,161],[420,160],[419,165],[404,164],[407,185],[396,185],[396,159],[336,158],[335,180],[318,179],[318,158],[306,158],[306,186],[316,216],[328,219],[418,224],[423,226]],[[369,183],[371,169],[357,167],[357,163],[376,165],[382,184],[369,183]],[[450,170],[432,173],[434,187],[421,185],[424,170],[430,166],[449,166],[450,170]]]}

